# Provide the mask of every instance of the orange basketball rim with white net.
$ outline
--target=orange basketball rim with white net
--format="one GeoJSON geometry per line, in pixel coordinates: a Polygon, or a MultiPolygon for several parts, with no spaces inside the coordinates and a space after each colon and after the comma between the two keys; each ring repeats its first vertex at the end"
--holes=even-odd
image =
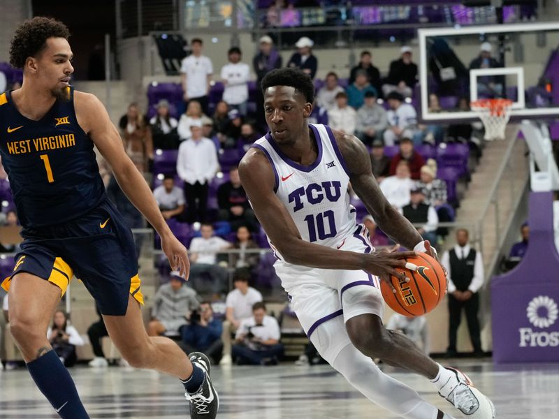
{"type": "Polygon", "coordinates": [[[486,140],[504,140],[504,128],[511,116],[512,101],[509,99],[479,99],[470,103],[485,126],[486,140]]]}

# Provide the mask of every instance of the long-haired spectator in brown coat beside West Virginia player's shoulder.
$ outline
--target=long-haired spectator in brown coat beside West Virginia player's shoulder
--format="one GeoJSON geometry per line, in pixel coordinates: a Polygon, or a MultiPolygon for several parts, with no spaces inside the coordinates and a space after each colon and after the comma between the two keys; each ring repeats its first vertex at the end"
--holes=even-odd
{"type": "Polygon", "coordinates": [[[121,133],[126,154],[140,172],[147,172],[153,163],[152,130],[136,103],[129,105],[121,133]]]}

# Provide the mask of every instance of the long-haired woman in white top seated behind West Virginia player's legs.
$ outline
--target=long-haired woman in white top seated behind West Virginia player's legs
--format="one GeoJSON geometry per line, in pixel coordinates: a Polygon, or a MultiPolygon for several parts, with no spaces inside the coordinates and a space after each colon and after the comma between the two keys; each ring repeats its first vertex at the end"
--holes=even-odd
{"type": "Polygon", "coordinates": [[[55,312],[47,336],[50,346],[55,350],[64,366],[72,367],[78,360],[75,355],[75,347],[82,346],[85,342],[78,330],[72,325],[68,325],[68,318],[64,311],[57,310],[55,312]]]}

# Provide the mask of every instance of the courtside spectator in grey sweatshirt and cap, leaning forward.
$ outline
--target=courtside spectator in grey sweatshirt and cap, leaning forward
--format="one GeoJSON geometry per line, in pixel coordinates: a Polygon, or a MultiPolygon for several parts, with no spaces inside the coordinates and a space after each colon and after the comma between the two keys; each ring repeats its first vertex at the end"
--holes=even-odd
{"type": "Polygon", "coordinates": [[[180,272],[173,271],[168,283],[159,286],[154,297],[152,320],[147,323],[147,335],[180,336],[180,329],[187,324],[191,312],[200,307],[196,291],[185,284],[180,272]]]}

